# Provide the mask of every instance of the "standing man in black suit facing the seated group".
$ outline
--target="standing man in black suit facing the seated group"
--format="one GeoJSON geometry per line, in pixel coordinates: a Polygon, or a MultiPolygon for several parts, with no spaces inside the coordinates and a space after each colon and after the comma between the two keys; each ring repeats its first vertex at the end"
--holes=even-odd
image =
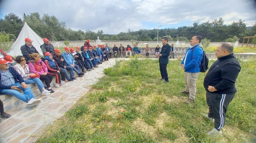
{"type": "Polygon", "coordinates": [[[167,73],[167,63],[169,63],[169,55],[171,53],[171,46],[168,44],[168,38],[163,37],[162,38],[162,49],[161,52],[158,54],[159,57],[159,68],[160,68],[160,73],[161,77],[160,80],[164,80],[164,83],[168,83],[168,73],[167,73]]]}

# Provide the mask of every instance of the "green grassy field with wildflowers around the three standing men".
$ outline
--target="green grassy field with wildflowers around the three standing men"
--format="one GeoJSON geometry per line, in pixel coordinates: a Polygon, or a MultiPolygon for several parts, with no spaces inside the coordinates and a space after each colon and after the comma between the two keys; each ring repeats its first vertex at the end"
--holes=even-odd
{"type": "MultiPolygon", "coordinates": [[[[170,82],[160,77],[158,60],[117,62],[62,118],[49,125],[37,143],[47,142],[255,142],[256,59],[241,61],[237,93],[229,104],[223,135],[210,138],[203,79],[195,104],[186,105],[180,60],[167,65],[170,82]]],[[[214,60],[210,60],[210,65],[214,60]]]]}

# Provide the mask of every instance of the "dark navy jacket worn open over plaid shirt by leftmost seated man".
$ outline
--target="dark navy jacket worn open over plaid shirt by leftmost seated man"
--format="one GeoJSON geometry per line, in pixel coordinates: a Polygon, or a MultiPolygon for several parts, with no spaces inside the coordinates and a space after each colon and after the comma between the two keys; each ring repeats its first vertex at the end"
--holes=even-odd
{"type": "MultiPolygon", "coordinates": [[[[22,82],[25,82],[22,78],[22,76],[11,66],[9,66],[8,70],[11,72],[11,74],[13,75],[14,77],[14,80],[15,80],[15,83],[22,83],[22,82]]],[[[2,75],[0,74],[0,92],[3,90],[3,89],[11,89],[11,86],[6,86],[6,85],[3,85],[1,83],[1,78],[2,78],[2,75]]]]}

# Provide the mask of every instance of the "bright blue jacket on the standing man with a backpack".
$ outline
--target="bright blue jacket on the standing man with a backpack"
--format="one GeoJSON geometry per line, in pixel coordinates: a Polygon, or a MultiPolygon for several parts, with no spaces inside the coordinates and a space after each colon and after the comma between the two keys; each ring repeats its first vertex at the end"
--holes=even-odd
{"type": "MultiPolygon", "coordinates": [[[[201,65],[201,61],[203,59],[203,50],[202,48],[199,47],[200,45],[197,44],[193,47],[189,47],[186,51],[187,54],[187,58],[186,58],[186,62],[185,62],[185,72],[190,72],[190,73],[196,73],[196,72],[200,72],[200,65],[201,65]],[[195,50],[192,53],[192,50],[195,48],[195,50]]],[[[186,56],[185,54],[185,56],[186,56]]],[[[181,65],[184,64],[184,59],[181,61],[181,65]]]]}

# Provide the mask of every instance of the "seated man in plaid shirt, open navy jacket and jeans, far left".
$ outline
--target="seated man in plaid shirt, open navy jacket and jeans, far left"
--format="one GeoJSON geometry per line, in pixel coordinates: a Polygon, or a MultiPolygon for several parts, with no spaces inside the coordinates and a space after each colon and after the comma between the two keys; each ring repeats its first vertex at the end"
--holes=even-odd
{"type": "Polygon", "coordinates": [[[0,93],[13,95],[26,102],[27,105],[39,104],[42,98],[35,99],[22,76],[13,67],[8,66],[8,63],[8,61],[0,59],[0,93]],[[19,89],[22,89],[24,94],[21,94],[19,89]]]}

